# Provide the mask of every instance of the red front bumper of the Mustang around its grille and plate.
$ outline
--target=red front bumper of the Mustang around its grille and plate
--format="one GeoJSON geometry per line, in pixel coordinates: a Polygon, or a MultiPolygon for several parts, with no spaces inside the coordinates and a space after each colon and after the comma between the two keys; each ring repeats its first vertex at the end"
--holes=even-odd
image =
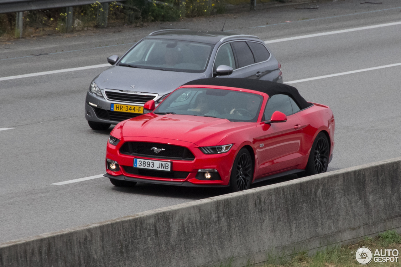
{"type": "MultiPolygon", "coordinates": [[[[118,171],[111,171],[107,168],[106,163],[107,174],[105,174],[105,176],[117,180],[153,184],[170,184],[179,186],[228,186],[236,150],[237,147],[233,146],[233,148],[231,148],[227,153],[206,155],[201,152],[198,146],[189,142],[161,138],[126,137],[124,140],[121,140],[117,146],[113,146],[109,143],[107,144],[106,158],[117,162],[120,168],[118,171]],[[151,142],[182,146],[188,148],[195,158],[194,160],[170,160],[152,158],[151,156],[126,155],[119,152],[119,149],[124,142],[151,142]],[[153,173],[152,176],[134,174],[132,172],[133,169],[136,169],[133,168],[134,158],[171,162],[172,175],[170,175],[170,177],[167,177],[166,175],[159,176],[161,171],[159,174],[153,173]],[[199,169],[215,169],[219,173],[221,180],[200,180],[196,178],[199,169]],[[184,174],[184,176],[182,174],[184,174]]],[[[165,174],[165,172],[163,174],[165,174]]]]}

